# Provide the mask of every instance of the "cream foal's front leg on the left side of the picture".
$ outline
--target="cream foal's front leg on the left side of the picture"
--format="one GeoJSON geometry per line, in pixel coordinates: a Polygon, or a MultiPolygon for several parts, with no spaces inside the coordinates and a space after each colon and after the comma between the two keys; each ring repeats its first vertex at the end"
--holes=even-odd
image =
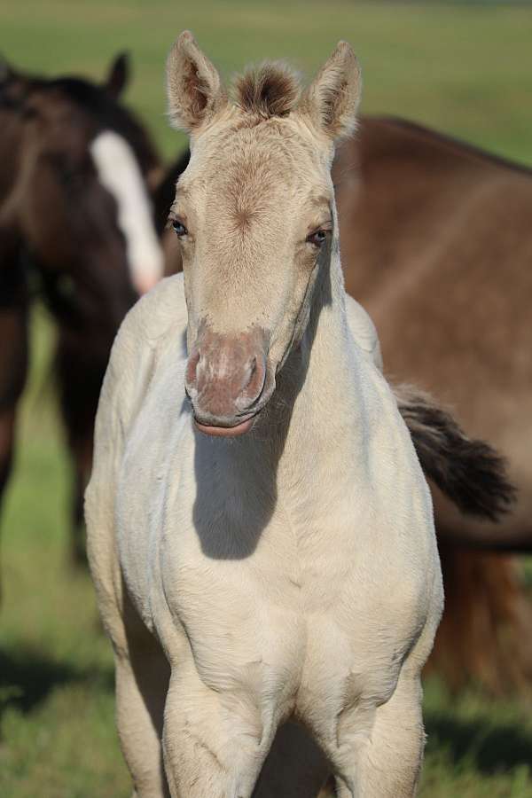
{"type": "Polygon", "coordinates": [[[193,665],[172,672],[163,749],[172,798],[250,798],[270,739],[258,710],[204,685],[193,665]]]}

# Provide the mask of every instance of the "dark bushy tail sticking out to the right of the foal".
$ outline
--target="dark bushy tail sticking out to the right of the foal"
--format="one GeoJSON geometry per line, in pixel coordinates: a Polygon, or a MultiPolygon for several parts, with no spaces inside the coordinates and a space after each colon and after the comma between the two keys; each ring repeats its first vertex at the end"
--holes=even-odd
{"type": "Polygon", "coordinates": [[[423,472],[468,515],[497,520],[515,498],[505,459],[488,443],[468,438],[450,412],[411,386],[393,387],[423,472]]]}

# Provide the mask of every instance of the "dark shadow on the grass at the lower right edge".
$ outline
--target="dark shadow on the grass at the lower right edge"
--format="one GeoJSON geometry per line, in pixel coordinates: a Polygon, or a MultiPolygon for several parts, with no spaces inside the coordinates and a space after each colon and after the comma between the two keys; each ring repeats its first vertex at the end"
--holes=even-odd
{"type": "Polygon", "coordinates": [[[532,733],[512,724],[490,724],[486,719],[464,721],[427,712],[427,753],[444,749],[455,764],[473,763],[493,774],[519,765],[532,768],[532,733]]]}

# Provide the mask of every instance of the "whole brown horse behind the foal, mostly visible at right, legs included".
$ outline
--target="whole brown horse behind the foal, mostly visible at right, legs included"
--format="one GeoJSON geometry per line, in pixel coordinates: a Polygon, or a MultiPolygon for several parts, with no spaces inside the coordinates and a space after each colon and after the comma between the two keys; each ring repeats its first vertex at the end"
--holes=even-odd
{"type": "MultiPolygon", "coordinates": [[[[159,223],[187,161],[160,184],[159,223]]],[[[432,662],[455,685],[528,686],[530,607],[514,559],[491,552],[532,548],[532,172],[403,121],[366,118],[333,177],[348,291],[378,327],[386,371],[495,443],[519,487],[517,512],[495,524],[458,512],[433,483],[447,599],[432,662]]],[[[168,273],[180,270],[170,235],[165,251],[168,273]]]]}

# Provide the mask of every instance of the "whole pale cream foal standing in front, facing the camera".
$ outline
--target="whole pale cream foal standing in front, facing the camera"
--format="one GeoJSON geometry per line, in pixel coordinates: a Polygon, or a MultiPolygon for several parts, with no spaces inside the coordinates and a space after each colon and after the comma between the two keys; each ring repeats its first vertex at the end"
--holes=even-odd
{"type": "Polygon", "coordinates": [[[343,289],[329,170],[358,92],[345,43],[301,99],[266,65],[229,104],[190,34],[168,60],[192,136],[184,279],[121,328],[87,491],[142,798],[164,794],[161,746],[181,798],[308,798],[328,768],[342,798],[415,792],[442,583],[419,461],[343,289]]]}

